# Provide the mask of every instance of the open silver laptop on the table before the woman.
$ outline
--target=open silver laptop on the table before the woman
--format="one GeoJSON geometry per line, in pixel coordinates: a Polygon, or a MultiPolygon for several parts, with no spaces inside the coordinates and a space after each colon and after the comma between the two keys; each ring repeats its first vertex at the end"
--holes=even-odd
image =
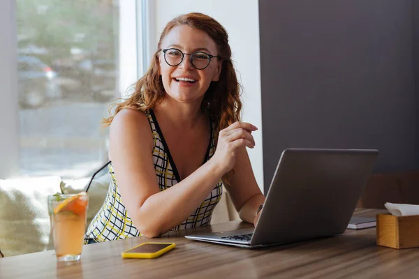
{"type": "Polygon", "coordinates": [[[185,237],[260,248],[341,234],[377,157],[375,149],[285,149],[255,228],[185,237]]]}

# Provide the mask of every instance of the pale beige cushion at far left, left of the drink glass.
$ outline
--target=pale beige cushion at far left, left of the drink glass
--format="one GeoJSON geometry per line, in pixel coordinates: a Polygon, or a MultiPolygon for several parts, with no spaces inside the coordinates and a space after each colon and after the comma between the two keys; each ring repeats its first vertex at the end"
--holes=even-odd
{"type": "Polygon", "coordinates": [[[0,180],[0,249],[5,257],[51,250],[47,196],[59,176],[0,180]]]}

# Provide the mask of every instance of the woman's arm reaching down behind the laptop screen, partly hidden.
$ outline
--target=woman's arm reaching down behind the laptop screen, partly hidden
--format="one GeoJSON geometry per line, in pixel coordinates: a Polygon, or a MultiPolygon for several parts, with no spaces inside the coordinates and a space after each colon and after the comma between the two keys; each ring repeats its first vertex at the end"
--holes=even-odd
{"type": "MultiPolygon", "coordinates": [[[[246,148],[237,151],[234,174],[230,178],[230,186],[224,183],[231,196],[235,209],[242,220],[254,223],[260,204],[265,202],[251,168],[246,148]]],[[[254,224],[256,225],[256,224],[254,224]]]]}

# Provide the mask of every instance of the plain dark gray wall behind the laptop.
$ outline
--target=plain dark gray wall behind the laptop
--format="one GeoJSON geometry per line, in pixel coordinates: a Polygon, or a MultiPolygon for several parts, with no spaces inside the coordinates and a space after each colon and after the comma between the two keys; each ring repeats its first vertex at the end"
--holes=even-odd
{"type": "Polygon", "coordinates": [[[416,7],[259,1],[265,193],[287,147],[374,148],[374,172],[419,167],[416,7]]]}

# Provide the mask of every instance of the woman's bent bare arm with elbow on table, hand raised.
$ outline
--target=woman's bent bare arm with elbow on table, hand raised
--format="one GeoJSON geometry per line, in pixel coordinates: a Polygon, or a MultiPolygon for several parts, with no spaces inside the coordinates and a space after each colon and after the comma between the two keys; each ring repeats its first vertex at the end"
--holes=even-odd
{"type": "Polygon", "coordinates": [[[253,145],[231,133],[220,133],[224,140],[221,144],[219,141],[211,160],[175,186],[160,191],[147,116],[135,110],[122,110],[115,116],[110,127],[110,159],[124,206],[142,234],[159,236],[182,223],[229,170],[228,166],[234,165],[231,163],[235,158],[234,151],[253,145]]]}

